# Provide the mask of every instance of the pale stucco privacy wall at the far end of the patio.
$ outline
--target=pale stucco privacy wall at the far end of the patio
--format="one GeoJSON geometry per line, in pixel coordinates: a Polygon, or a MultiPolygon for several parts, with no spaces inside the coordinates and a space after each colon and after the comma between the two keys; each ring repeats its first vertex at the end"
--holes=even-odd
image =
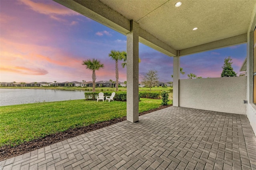
{"type": "Polygon", "coordinates": [[[246,115],[246,78],[179,80],[179,106],[246,115]]]}

